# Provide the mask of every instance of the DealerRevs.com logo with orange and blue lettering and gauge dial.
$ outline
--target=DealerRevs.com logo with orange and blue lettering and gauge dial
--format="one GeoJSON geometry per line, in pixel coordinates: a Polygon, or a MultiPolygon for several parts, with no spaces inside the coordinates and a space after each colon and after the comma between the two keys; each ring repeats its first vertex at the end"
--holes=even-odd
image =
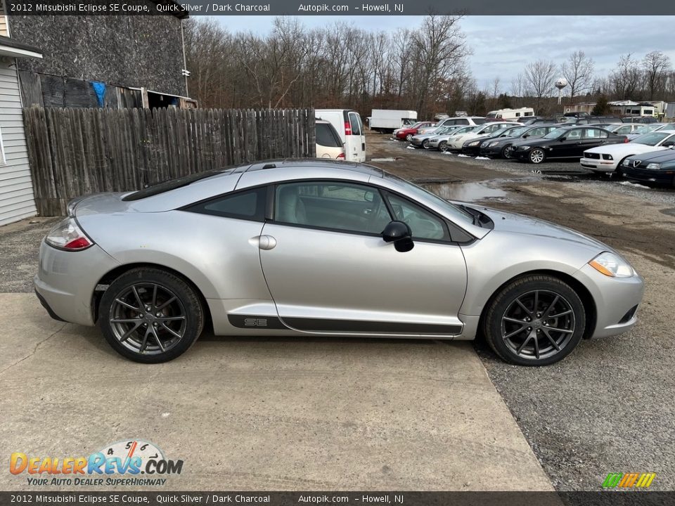
{"type": "Polygon", "coordinates": [[[142,439],[118,441],[89,457],[35,457],[12,453],[9,472],[26,475],[30,486],[162,486],[181,474],[183,460],[170,460],[142,439]]]}

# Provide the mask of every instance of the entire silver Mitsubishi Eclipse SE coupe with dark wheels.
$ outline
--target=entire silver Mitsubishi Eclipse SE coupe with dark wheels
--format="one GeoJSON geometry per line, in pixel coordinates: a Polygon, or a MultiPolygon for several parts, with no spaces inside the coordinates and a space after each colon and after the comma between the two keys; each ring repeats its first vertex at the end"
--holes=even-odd
{"type": "Polygon", "coordinates": [[[285,160],[73,201],[34,280],[54,318],[134,361],[217,335],[474,339],[546,365],[629,330],[643,279],[612,248],[448,202],[375,167],[285,160]]]}

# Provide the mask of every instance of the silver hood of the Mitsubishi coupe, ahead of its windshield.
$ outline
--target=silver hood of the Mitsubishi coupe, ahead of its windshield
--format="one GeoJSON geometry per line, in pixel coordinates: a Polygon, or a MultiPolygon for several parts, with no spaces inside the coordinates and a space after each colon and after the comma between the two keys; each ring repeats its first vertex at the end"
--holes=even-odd
{"type": "Polygon", "coordinates": [[[541,219],[525,216],[524,214],[515,214],[497,209],[486,207],[476,207],[480,212],[484,212],[494,221],[494,231],[514,233],[518,235],[530,235],[543,238],[552,238],[567,242],[574,242],[577,245],[583,245],[589,249],[615,252],[614,249],[605,245],[603,242],[595,240],[588,235],[584,235],[571,228],[563,227],[544,221],[541,219]]]}

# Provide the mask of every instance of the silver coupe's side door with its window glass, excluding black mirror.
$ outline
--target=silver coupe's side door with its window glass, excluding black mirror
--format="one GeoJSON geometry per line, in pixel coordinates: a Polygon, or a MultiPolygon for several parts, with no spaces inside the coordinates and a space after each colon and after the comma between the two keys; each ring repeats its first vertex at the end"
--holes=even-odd
{"type": "MultiPolygon", "coordinates": [[[[347,181],[274,187],[262,271],[285,325],[305,332],[457,335],[466,267],[442,219],[385,192],[347,181]],[[415,246],[397,252],[380,233],[397,209],[415,246]]],[[[399,197],[400,198],[400,197],[399,197]]]]}

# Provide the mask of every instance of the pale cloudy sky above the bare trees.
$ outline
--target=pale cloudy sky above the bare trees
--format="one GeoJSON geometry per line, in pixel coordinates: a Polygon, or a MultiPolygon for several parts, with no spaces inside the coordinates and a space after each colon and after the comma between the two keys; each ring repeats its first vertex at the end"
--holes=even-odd
{"type": "MultiPolygon", "coordinates": [[[[231,32],[271,30],[272,16],[214,16],[231,32]]],[[[322,27],[345,20],[366,30],[414,28],[422,16],[299,16],[306,27],[322,27]]],[[[473,51],[471,70],[479,86],[501,79],[501,91],[532,60],[562,62],[582,49],[596,62],[596,74],[605,75],[619,56],[642,58],[663,51],[675,64],[675,16],[469,16],[461,21],[473,51]]]]}

